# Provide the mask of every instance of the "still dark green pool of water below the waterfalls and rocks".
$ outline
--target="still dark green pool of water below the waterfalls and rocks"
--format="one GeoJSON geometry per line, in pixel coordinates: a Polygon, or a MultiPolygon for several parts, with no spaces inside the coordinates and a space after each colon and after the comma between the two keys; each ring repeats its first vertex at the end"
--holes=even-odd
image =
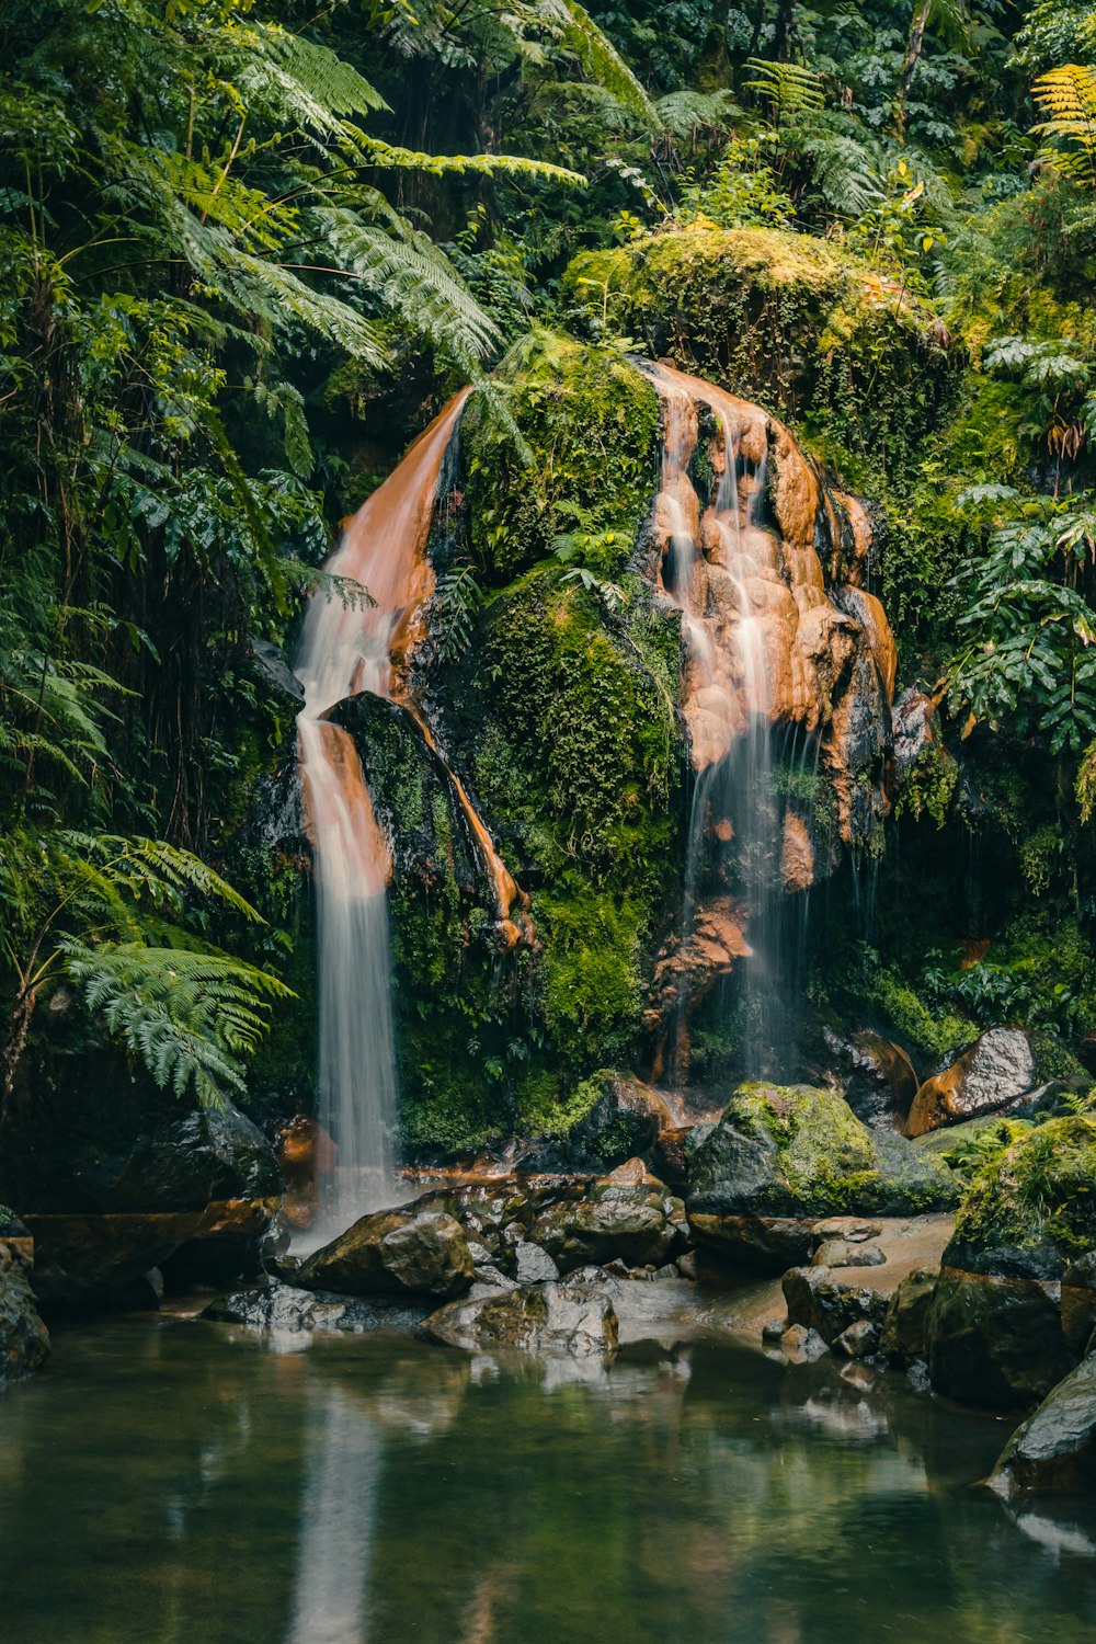
{"type": "Polygon", "coordinates": [[[1006,1434],[707,1343],[601,1371],[69,1328],[0,1399],[0,1639],[1096,1637],[1096,1508],[971,1488],[1006,1434]]]}

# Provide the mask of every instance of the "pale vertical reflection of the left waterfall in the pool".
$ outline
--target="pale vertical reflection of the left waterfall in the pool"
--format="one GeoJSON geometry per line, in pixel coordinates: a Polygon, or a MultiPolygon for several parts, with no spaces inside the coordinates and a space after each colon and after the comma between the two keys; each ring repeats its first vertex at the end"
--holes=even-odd
{"type": "Polygon", "coordinates": [[[314,1397],[324,1414],[309,1445],[286,1644],[363,1644],[381,1442],[343,1392],[317,1388],[314,1397]]]}

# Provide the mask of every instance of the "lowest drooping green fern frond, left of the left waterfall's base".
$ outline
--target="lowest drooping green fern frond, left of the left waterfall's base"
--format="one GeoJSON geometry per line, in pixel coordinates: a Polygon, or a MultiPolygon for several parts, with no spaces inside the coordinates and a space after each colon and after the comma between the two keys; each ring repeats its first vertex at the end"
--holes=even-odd
{"type": "Polygon", "coordinates": [[[245,1092],[240,1059],[266,1032],[268,1001],[294,996],[276,977],[227,954],[64,942],[62,965],[87,1009],[159,1088],[182,1097],[192,1085],[204,1106],[245,1092]]]}

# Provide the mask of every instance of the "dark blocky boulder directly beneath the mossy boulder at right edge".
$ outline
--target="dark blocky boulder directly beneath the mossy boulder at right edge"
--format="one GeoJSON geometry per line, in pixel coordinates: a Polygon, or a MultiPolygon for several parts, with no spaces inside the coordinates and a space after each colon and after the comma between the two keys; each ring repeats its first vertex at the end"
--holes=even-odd
{"type": "Polygon", "coordinates": [[[1043,1399],[1076,1363],[1061,1333],[1057,1286],[945,1266],[927,1318],[937,1392],[978,1409],[1043,1399]]]}

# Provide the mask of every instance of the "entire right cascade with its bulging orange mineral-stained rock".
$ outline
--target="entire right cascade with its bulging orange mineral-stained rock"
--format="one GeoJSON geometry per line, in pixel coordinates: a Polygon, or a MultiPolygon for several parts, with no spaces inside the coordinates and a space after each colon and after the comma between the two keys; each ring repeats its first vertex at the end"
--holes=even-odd
{"type": "Polygon", "coordinates": [[[690,1011],[735,970],[741,1072],[789,1077],[807,893],[836,842],[871,840],[887,806],[896,651],[879,600],[856,585],[871,524],[759,406],[669,365],[644,370],[664,413],[652,580],[682,613],[695,773],[682,934],[656,968],[674,1001],[664,1070],[687,1083],[690,1011]],[[820,776],[833,797],[822,858],[820,776]]]}

